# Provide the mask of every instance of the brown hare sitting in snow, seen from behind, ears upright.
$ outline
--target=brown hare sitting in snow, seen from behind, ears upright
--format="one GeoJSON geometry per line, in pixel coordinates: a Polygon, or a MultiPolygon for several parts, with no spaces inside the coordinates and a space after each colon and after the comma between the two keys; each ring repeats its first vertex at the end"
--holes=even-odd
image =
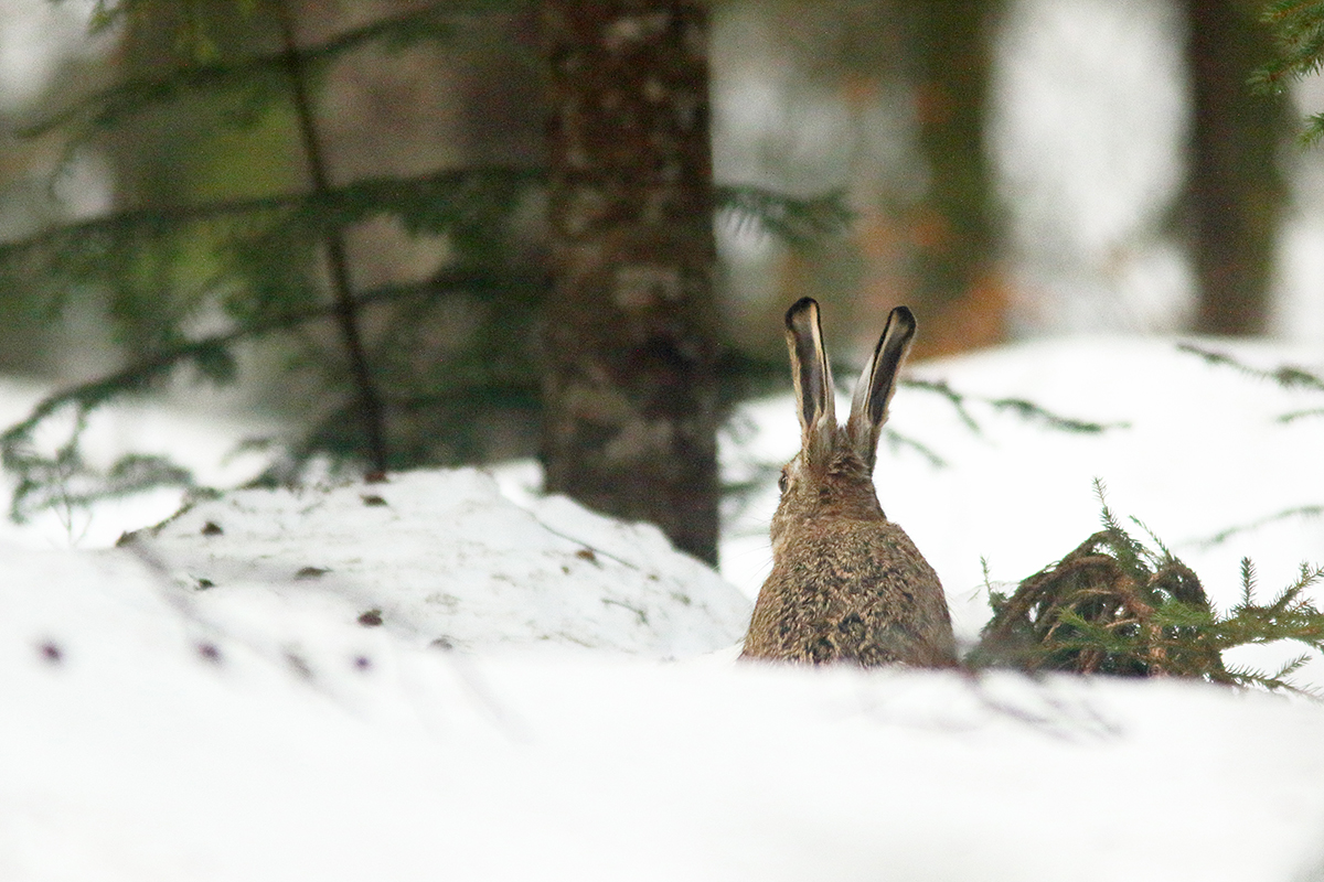
{"type": "Polygon", "coordinates": [[[896,307],[837,424],[818,304],[786,312],[801,442],[772,517],[772,573],[759,591],[743,659],[862,666],[956,664],[937,574],[874,492],[878,436],[915,316],[896,307]]]}

